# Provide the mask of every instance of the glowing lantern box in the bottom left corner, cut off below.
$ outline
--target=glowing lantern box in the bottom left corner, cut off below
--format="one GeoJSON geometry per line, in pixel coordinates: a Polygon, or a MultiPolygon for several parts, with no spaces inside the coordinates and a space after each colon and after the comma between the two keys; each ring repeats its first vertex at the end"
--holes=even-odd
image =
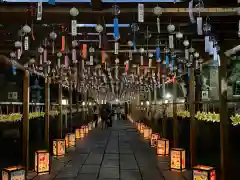
{"type": "Polygon", "coordinates": [[[2,170],[2,180],[25,180],[26,171],[22,166],[13,166],[2,170]]]}

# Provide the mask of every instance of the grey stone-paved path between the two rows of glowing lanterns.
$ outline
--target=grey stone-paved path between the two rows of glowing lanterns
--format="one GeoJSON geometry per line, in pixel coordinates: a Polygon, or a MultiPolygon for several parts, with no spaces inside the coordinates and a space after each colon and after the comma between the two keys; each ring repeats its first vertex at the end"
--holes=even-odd
{"type": "MultiPolygon", "coordinates": [[[[191,180],[190,172],[169,171],[169,158],[158,157],[129,121],[94,129],[65,157],[53,159],[51,174],[32,180],[191,180]]],[[[32,177],[31,177],[32,176],[32,177]]]]}

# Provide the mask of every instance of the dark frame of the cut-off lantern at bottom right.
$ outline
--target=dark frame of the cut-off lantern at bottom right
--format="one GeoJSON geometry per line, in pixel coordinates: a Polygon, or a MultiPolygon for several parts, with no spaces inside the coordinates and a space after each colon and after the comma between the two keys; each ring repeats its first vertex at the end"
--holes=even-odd
{"type": "Polygon", "coordinates": [[[216,180],[216,170],[212,166],[197,165],[192,168],[192,177],[194,179],[195,174],[199,173],[198,176],[207,176],[207,180],[216,180]],[[204,173],[204,174],[203,174],[204,173]],[[214,176],[214,177],[212,177],[214,176]]]}

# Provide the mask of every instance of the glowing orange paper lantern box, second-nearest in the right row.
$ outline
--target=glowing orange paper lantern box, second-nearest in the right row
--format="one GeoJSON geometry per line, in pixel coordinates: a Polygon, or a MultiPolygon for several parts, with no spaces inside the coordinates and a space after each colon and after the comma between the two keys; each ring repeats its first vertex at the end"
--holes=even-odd
{"type": "Polygon", "coordinates": [[[186,169],[185,166],[186,152],[182,148],[172,148],[170,156],[170,167],[172,171],[182,172],[186,169]]]}

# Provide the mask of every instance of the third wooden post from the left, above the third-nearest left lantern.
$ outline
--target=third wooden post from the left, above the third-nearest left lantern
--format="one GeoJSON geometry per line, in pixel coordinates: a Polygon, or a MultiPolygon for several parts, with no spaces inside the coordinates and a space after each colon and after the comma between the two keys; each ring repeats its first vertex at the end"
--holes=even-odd
{"type": "Polygon", "coordinates": [[[59,114],[58,114],[58,137],[62,138],[63,137],[63,117],[62,117],[62,84],[58,84],[58,109],[59,109],[59,114]]]}

